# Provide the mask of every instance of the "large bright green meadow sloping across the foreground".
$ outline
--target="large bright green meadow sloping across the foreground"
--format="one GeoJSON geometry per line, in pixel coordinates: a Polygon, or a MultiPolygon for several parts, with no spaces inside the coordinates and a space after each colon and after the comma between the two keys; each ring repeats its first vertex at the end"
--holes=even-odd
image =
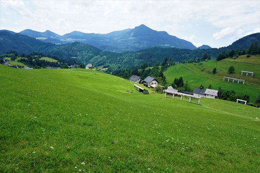
{"type": "Polygon", "coordinates": [[[0,65],[0,86],[0,172],[259,172],[258,108],[81,69],[0,65]]]}

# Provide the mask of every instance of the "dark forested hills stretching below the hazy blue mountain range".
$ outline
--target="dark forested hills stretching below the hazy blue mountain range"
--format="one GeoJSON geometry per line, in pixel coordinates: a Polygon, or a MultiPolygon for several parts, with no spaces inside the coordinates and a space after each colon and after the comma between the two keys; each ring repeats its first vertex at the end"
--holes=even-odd
{"type": "Polygon", "coordinates": [[[164,57],[172,57],[174,61],[203,57],[205,53],[211,57],[216,57],[222,51],[247,49],[250,43],[255,41],[260,43],[260,33],[246,36],[222,48],[191,50],[174,47],[152,47],[136,52],[115,53],[102,51],[99,48],[85,43],[75,42],[56,45],[44,43],[25,35],[0,31],[0,54],[6,53],[9,50],[15,50],[18,53],[30,53],[35,51],[44,53],[47,56],[56,56],[63,60],[71,60],[71,58],[74,58],[78,64],[93,63],[95,66],[103,65],[110,67],[109,70],[115,71],[120,68],[136,68],[142,63],[148,63],[149,66],[152,66],[155,63],[160,63],[164,57]]]}

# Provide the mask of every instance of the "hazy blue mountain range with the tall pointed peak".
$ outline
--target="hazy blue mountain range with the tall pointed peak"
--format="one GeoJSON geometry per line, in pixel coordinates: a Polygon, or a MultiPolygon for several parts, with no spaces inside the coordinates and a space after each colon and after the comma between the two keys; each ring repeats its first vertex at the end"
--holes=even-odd
{"type": "Polygon", "coordinates": [[[49,30],[46,32],[37,32],[29,29],[21,31],[20,34],[47,43],[65,44],[81,42],[91,44],[102,50],[115,52],[137,51],[154,46],[196,49],[196,46],[188,41],[171,36],[165,31],[153,30],[143,24],[133,29],[114,31],[108,34],[88,34],[73,31],[60,36],[49,30]]]}

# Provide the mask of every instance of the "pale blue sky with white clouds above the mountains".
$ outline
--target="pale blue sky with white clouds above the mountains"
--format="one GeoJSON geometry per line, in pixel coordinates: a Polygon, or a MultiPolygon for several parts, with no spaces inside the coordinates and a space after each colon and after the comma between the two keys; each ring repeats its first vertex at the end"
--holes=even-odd
{"type": "Polygon", "coordinates": [[[0,30],[109,33],[144,24],[195,46],[260,32],[260,0],[0,0],[0,30]]]}

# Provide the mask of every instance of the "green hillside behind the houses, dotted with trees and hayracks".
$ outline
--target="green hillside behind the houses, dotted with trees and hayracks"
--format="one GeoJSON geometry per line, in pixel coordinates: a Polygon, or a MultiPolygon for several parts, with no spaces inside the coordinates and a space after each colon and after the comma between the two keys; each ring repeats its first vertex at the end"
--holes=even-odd
{"type": "MultiPolygon", "coordinates": [[[[254,102],[257,95],[260,94],[260,65],[240,62],[245,61],[242,59],[243,57],[235,60],[230,58],[221,61],[210,60],[208,62],[203,62],[202,65],[197,63],[177,64],[169,67],[165,72],[165,76],[169,82],[173,81],[176,77],[182,76],[184,81],[188,81],[192,89],[194,87],[200,87],[201,84],[203,84],[204,87],[208,87],[209,84],[211,84],[214,89],[221,87],[223,89],[235,90],[239,95],[249,94],[250,101],[254,102]],[[231,65],[235,67],[235,74],[227,73],[227,70],[231,65]],[[212,74],[213,68],[217,69],[217,73],[215,75],[212,74]],[[241,75],[241,70],[253,71],[256,75],[254,78],[241,75]],[[223,82],[223,76],[244,79],[245,85],[232,82],[228,83],[227,81],[223,82]]],[[[260,57],[254,57],[254,60],[251,62],[256,61],[260,62],[260,57]],[[256,58],[258,58],[258,61],[256,58]]]]}

